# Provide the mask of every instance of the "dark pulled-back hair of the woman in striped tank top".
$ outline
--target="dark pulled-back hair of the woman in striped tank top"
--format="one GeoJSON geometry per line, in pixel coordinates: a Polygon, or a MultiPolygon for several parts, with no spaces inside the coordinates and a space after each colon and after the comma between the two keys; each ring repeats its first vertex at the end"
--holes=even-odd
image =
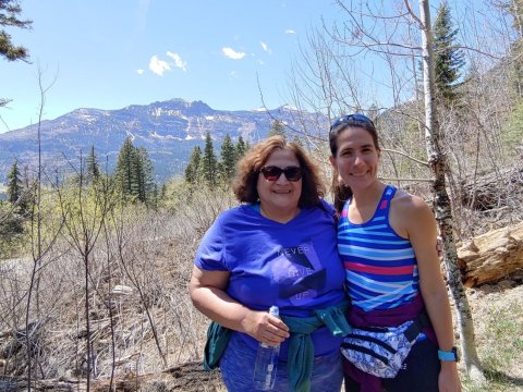
{"type": "MultiPolygon", "coordinates": [[[[338,154],[338,136],[348,127],[361,127],[367,131],[373,137],[374,146],[376,149],[380,150],[378,132],[376,131],[374,122],[363,114],[350,114],[335,120],[330,126],[329,147],[330,154],[333,158],[336,158],[338,154]]],[[[336,211],[341,213],[343,205],[352,196],[352,191],[348,185],[343,184],[340,173],[336,167],[332,172],[331,191],[335,197],[336,211]]]]}

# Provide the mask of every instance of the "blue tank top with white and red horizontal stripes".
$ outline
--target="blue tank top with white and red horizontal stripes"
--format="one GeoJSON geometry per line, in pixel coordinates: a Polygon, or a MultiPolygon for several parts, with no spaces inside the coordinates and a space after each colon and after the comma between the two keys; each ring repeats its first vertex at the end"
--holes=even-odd
{"type": "Polygon", "coordinates": [[[348,200],[338,224],[338,250],[345,267],[349,295],[352,304],[365,311],[410,303],[419,292],[411,242],[389,224],[390,200],[396,191],[387,185],[374,217],[362,224],[349,221],[348,200]]]}

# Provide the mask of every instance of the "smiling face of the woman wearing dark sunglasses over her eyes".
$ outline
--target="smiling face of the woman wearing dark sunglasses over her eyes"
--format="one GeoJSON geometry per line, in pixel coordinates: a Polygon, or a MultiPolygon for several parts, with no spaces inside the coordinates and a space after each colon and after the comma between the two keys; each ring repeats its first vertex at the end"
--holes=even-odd
{"type": "MultiPolygon", "coordinates": [[[[264,163],[264,167],[275,166],[281,169],[300,167],[300,161],[293,151],[278,148],[264,163]]],[[[302,180],[291,182],[282,173],[277,181],[265,180],[258,175],[256,185],[263,213],[273,220],[291,219],[297,213],[297,203],[302,194],[302,180]]]]}

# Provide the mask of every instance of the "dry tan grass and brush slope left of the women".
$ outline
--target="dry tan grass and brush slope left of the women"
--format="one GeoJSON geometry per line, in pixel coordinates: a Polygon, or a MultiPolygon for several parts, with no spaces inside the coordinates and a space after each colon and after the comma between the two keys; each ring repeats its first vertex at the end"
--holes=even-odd
{"type": "MultiPolygon", "coordinates": [[[[88,258],[88,291],[85,259],[66,233],[58,237],[38,266],[32,293],[33,378],[86,377],[86,298],[93,379],[200,359],[208,320],[192,306],[186,285],[202,234],[233,201],[216,193],[193,203],[161,213],[133,207],[107,216],[107,231],[88,258]],[[125,293],[115,294],[115,286],[125,293]]],[[[27,257],[0,261],[0,303],[7,305],[0,308],[0,375],[27,373],[32,268],[27,257]]]]}

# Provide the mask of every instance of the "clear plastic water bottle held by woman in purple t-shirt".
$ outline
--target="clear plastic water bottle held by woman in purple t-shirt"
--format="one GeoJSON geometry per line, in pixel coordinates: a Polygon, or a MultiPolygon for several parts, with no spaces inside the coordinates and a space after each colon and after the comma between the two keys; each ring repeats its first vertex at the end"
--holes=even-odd
{"type": "MultiPolygon", "coordinates": [[[[269,315],[279,318],[280,310],[278,309],[278,306],[271,306],[269,315]]],[[[275,387],[279,355],[279,344],[277,346],[271,346],[262,342],[258,344],[256,363],[254,365],[254,388],[256,390],[270,391],[275,387]]]]}

